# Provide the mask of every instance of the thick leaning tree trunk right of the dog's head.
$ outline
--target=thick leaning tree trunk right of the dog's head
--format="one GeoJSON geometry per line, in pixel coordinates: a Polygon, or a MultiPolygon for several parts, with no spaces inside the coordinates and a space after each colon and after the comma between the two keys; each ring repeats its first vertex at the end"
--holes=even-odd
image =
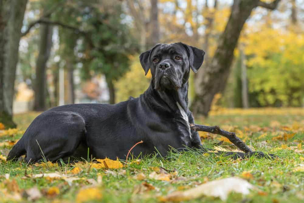
{"type": "Polygon", "coordinates": [[[259,0],[234,0],[231,7],[231,14],[222,33],[218,47],[208,66],[200,69],[202,72],[199,79],[199,89],[196,90],[191,106],[193,114],[208,116],[213,97],[222,91],[227,82],[230,72],[230,65],[233,61],[233,51],[245,21],[251,11],[261,5],[268,9],[275,9],[279,0],[267,4],[259,0]]]}

